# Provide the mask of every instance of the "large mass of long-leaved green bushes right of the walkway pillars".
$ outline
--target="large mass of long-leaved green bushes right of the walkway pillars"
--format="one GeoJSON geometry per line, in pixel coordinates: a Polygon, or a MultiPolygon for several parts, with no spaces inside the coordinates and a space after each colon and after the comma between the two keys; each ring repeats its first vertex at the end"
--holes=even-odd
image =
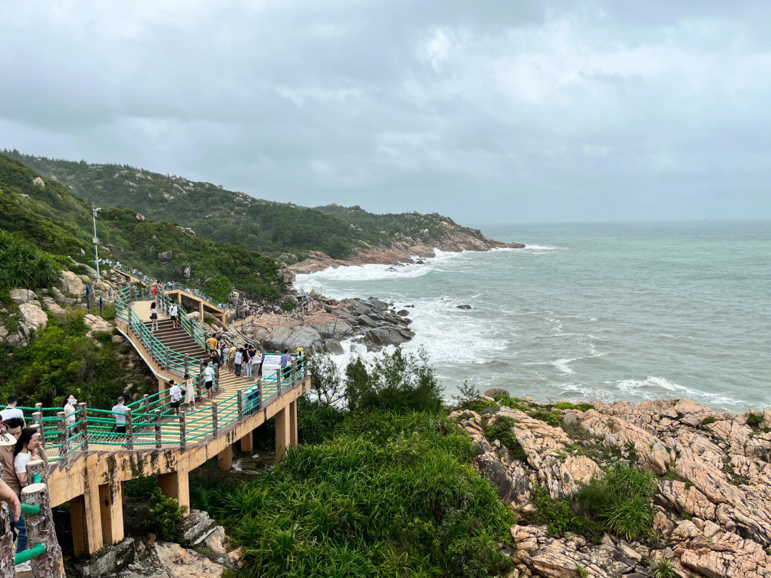
{"type": "Polygon", "coordinates": [[[369,408],[210,501],[244,576],[503,576],[513,512],[474,455],[436,413],[369,408]]]}

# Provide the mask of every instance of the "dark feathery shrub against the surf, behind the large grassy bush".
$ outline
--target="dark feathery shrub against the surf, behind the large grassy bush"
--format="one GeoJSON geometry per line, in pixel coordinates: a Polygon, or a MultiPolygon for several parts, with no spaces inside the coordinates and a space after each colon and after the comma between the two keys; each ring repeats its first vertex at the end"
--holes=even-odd
{"type": "Polygon", "coordinates": [[[379,408],[397,412],[439,412],[442,388],[425,351],[385,353],[367,368],[361,358],[345,369],[345,398],[351,411],[379,408]]]}

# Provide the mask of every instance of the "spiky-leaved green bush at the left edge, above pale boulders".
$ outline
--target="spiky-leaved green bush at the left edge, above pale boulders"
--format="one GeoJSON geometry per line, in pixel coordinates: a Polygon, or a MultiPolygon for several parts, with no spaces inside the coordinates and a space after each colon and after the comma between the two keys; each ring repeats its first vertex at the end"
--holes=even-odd
{"type": "Polygon", "coordinates": [[[0,289],[48,287],[60,268],[52,255],[0,230],[0,289]]]}

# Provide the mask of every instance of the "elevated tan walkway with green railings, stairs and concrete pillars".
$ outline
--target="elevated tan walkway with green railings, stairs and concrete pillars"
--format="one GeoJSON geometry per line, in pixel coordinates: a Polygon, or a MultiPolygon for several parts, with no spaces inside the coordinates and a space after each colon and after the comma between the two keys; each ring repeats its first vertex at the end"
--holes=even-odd
{"type": "Polygon", "coordinates": [[[172,328],[171,300],[157,296],[158,330],[150,328],[149,292],[123,287],[116,294],[116,326],[159,380],[157,394],[128,405],[126,431],[116,415],[79,404],[66,419],[61,408],[23,408],[28,422],[43,432],[49,455],[50,505],[69,502],[76,556],[90,556],[123,539],[123,482],[158,476],[158,486],[180,506],[190,506],[188,473],[217,456],[230,469],[233,446],[253,449],[252,432],[275,419],[276,459],[297,446],[297,399],[310,388],[305,357],[287,368],[254,379],[217,371],[208,399],[200,361],[206,358],[203,330],[180,310],[172,328]],[[164,387],[173,379],[193,379],[196,402],[174,415],[164,387]]]}

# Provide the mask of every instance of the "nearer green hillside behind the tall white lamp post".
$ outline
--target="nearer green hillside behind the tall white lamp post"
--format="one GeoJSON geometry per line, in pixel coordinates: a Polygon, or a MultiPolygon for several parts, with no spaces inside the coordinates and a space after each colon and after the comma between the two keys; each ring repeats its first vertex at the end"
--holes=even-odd
{"type": "MultiPolygon", "coordinates": [[[[60,265],[72,257],[93,266],[90,204],[56,180],[43,179],[43,187],[33,183],[39,176],[29,166],[0,155],[0,230],[52,255],[60,265]]],[[[137,220],[133,210],[103,210],[97,231],[100,256],[120,260],[161,280],[178,277],[180,270],[190,266],[192,283],[224,275],[235,287],[253,295],[275,298],[282,289],[276,260],[238,245],[198,237],[172,223],[137,220]],[[172,257],[161,262],[158,254],[167,250],[172,257]]],[[[77,271],[74,265],[70,268],[77,271]]]]}

